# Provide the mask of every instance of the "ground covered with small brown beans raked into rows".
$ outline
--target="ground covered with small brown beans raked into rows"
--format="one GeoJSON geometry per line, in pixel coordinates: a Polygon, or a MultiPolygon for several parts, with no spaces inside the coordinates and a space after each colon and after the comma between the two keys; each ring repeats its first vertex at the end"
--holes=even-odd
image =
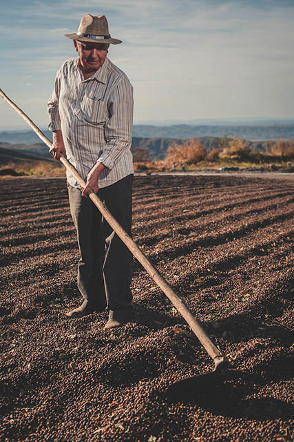
{"type": "Polygon", "coordinates": [[[138,263],[134,323],[64,315],[65,180],[0,188],[2,441],[293,441],[293,179],[135,177],[134,240],[244,373],[185,394],[166,390],[212,361],[138,263]]]}

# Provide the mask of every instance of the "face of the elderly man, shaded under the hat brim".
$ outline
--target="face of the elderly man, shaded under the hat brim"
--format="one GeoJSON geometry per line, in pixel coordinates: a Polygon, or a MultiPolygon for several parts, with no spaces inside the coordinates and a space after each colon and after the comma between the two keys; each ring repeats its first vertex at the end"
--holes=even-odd
{"type": "Polygon", "coordinates": [[[86,73],[94,72],[103,65],[107,56],[109,44],[105,43],[83,43],[74,40],[74,47],[78,52],[83,71],[86,73]]]}

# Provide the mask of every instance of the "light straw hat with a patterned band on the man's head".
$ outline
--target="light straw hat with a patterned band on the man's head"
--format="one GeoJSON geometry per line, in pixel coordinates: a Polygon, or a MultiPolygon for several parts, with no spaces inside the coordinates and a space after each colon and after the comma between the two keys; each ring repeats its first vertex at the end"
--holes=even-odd
{"type": "Polygon", "coordinates": [[[78,41],[87,41],[90,43],[121,43],[121,40],[112,39],[112,37],[110,37],[105,15],[83,15],[76,34],[65,34],[65,37],[78,41]]]}

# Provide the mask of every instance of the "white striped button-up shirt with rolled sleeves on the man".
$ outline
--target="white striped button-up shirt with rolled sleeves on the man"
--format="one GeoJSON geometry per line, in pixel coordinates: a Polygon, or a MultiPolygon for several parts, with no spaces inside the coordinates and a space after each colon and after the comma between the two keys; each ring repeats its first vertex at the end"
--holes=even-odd
{"type": "MultiPolygon", "coordinates": [[[[97,161],[105,166],[100,188],[134,173],[133,106],[132,84],[109,59],[88,79],[78,68],[78,58],[61,66],[48,101],[48,127],[61,129],[67,160],[84,180],[97,161]]],[[[69,172],[67,182],[80,187],[69,172]]]]}

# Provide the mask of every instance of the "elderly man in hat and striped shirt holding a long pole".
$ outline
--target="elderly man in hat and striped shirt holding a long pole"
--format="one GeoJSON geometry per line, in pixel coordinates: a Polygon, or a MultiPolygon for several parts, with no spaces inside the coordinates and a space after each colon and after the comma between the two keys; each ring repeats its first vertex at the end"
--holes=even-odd
{"type": "Polygon", "coordinates": [[[66,155],[86,182],[81,189],[67,173],[81,254],[78,289],[84,298],[67,316],[81,318],[106,307],[105,329],[111,329],[132,320],[134,314],[133,258],[87,194],[90,189],[98,192],[131,234],[133,88],[125,73],[107,58],[109,45],[121,41],[109,35],[104,16],[83,15],[78,31],[65,37],[74,40],[78,57],[61,66],[48,102],[53,133],[50,153],[56,159],[66,155]]]}

